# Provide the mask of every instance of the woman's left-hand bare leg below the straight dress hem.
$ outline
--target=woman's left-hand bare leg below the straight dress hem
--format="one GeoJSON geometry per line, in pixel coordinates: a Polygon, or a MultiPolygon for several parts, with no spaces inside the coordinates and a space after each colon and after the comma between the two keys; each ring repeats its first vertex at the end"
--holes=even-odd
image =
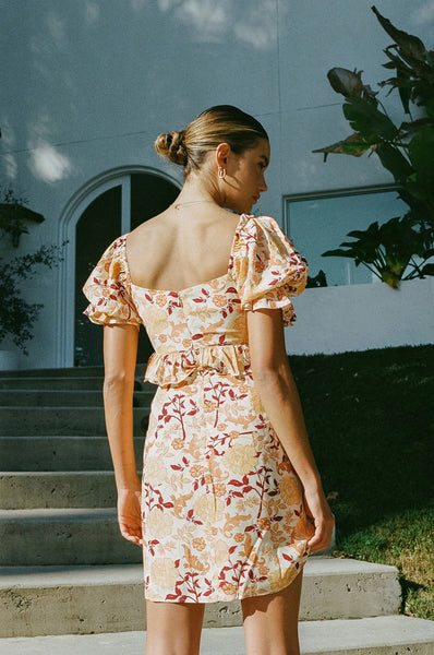
{"type": "Polygon", "coordinates": [[[203,603],[146,602],[146,655],[198,655],[203,603]]]}

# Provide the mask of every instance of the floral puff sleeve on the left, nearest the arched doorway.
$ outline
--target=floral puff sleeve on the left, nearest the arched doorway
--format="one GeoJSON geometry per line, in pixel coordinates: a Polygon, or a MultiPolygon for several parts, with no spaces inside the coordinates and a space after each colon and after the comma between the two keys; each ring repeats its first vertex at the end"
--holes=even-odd
{"type": "Polygon", "coordinates": [[[83,313],[93,323],[138,327],[142,322],[131,298],[125,240],[125,236],[119,237],[107,248],[83,287],[89,301],[83,313]]]}

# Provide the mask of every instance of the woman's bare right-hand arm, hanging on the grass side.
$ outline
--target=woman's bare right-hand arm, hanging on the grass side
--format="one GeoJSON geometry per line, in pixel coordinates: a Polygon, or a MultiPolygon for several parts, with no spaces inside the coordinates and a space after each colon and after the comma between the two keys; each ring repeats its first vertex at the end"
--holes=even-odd
{"type": "Polygon", "coordinates": [[[325,499],[289,368],[281,311],[250,311],[248,327],[255,389],[303,485],[306,511],[315,524],[315,535],[309,543],[311,551],[322,550],[330,543],[334,516],[325,499]]]}

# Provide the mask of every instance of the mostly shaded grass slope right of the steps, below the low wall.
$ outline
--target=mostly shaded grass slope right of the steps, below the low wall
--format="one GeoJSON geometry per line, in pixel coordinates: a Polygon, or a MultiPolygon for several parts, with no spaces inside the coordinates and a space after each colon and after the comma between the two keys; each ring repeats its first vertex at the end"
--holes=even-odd
{"type": "Polygon", "coordinates": [[[434,346],[291,356],[339,557],[398,567],[434,619],[434,346]]]}

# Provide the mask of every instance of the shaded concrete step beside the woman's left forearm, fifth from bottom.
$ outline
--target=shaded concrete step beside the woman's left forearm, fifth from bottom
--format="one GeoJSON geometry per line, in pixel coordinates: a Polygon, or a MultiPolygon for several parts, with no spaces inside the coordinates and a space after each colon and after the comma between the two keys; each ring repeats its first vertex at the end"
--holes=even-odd
{"type": "MultiPolygon", "coordinates": [[[[137,466],[142,462],[144,437],[134,439],[137,466]]],[[[107,437],[0,437],[0,467],[3,472],[110,471],[107,437]]]]}

